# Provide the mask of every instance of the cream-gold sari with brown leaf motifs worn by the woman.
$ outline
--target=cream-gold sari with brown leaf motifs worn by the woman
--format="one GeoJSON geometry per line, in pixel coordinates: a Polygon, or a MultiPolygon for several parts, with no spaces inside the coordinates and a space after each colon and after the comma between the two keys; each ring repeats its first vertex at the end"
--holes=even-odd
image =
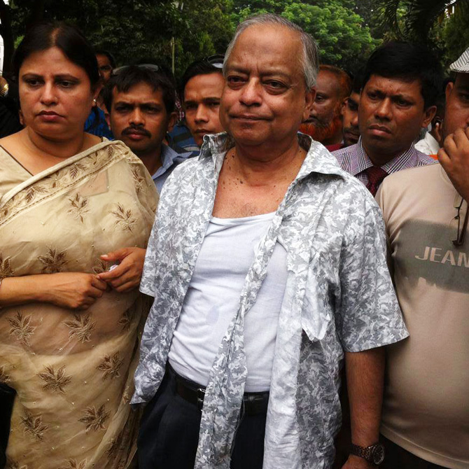
{"type": "MultiPolygon", "coordinates": [[[[158,195],[139,158],[104,141],[31,176],[0,148],[0,279],[99,273],[99,256],[145,248],[158,195]]],[[[15,389],[7,468],[125,469],[141,328],[137,289],[85,311],[41,302],[0,309],[0,381],[15,389]]]]}

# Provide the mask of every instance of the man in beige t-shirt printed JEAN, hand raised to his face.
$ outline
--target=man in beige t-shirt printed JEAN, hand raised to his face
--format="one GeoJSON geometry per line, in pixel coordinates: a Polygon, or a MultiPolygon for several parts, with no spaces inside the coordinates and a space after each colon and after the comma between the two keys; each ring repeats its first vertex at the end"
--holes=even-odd
{"type": "Polygon", "coordinates": [[[441,165],[377,193],[410,333],[388,347],[382,469],[469,468],[469,49],[451,71],[441,165]]]}

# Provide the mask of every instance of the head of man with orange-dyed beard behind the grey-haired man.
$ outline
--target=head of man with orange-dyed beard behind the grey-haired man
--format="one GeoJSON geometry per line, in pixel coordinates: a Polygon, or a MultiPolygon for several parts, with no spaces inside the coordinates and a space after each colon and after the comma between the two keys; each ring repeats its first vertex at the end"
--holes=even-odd
{"type": "Polygon", "coordinates": [[[313,137],[329,151],[342,148],[341,107],[350,92],[351,78],[347,73],[337,66],[319,66],[316,97],[300,132],[313,137]]]}

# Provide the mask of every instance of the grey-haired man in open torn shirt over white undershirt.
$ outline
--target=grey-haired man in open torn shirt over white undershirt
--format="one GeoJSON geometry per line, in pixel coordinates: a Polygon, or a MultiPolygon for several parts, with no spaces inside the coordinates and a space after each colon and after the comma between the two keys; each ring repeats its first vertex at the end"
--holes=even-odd
{"type": "Polygon", "coordinates": [[[345,361],[353,454],[372,469],[383,346],[407,337],[366,188],[298,134],[317,47],[285,18],[248,18],[225,54],[220,119],[169,176],[141,291],[154,297],[134,404],[139,468],[323,468],[345,361]]]}

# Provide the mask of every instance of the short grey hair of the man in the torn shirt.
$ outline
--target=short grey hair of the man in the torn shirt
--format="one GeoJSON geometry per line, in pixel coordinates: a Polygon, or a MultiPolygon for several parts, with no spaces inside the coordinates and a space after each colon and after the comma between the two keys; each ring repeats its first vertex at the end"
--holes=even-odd
{"type": "Polygon", "coordinates": [[[239,35],[248,29],[248,27],[255,25],[280,25],[300,34],[303,45],[301,64],[303,68],[304,83],[306,83],[308,90],[316,85],[316,77],[318,76],[319,67],[318,46],[316,45],[316,42],[311,37],[311,35],[305,33],[301,27],[295,25],[295,23],[291,21],[286,20],[286,18],[282,18],[279,15],[274,15],[273,13],[264,13],[262,15],[251,16],[251,18],[248,18],[247,20],[239,23],[235,31],[235,36],[233,36],[225,52],[225,60],[223,61],[223,76],[226,76],[226,64],[233,48],[235,47],[235,43],[239,38],[239,35]]]}

